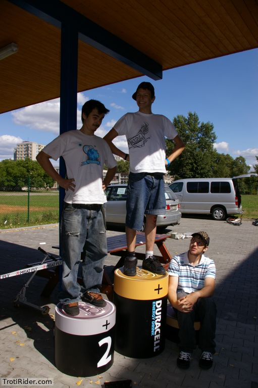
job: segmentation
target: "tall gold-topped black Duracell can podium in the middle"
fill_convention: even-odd
[[[115,270],[117,309],[115,350],[123,356],[148,358],[165,347],[168,273],[156,275],[137,267],[136,276]]]

